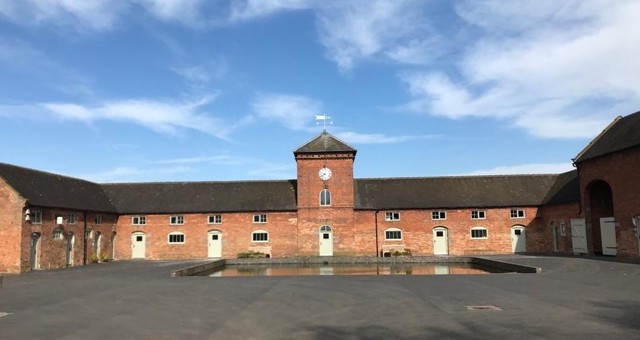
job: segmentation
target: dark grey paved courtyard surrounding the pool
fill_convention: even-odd
[[[640,265],[500,258],[542,273],[172,278],[195,262],[144,261],[33,272],[4,278],[0,339],[640,338]]]

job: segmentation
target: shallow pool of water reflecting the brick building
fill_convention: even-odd
[[[471,263],[226,265],[202,276],[459,275],[504,271]]]

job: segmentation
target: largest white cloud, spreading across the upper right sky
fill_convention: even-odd
[[[463,119],[502,119],[542,138],[593,137],[640,106],[637,1],[463,2],[475,25],[449,73],[403,72],[406,109]]]

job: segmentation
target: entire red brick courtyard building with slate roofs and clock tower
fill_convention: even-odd
[[[356,150],[326,131],[294,157],[279,181],[96,184],[0,164],[0,272],[247,252],[638,256],[640,113],[564,174],[355,179]]]

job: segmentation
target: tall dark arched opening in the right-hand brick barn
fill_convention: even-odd
[[[605,181],[598,180],[590,185],[589,216],[591,240],[595,254],[616,255],[616,231],[613,218],[613,193]]]

